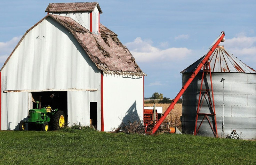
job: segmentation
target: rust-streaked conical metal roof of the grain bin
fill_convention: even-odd
[[[195,61],[192,65],[184,69],[181,73],[193,73],[198,64],[205,56]],[[209,58],[211,72],[227,73],[256,73],[256,71],[237,59],[225,50],[224,46],[218,46]],[[202,69],[200,70],[202,72]]]

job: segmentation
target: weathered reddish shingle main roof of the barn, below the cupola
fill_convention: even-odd
[[[142,72],[142,70],[135,62],[135,58],[133,55],[131,55],[130,51],[119,41],[117,34],[102,24],[100,24],[99,34],[94,34],[70,17],[48,14],[37,24],[31,27],[24,34],[21,41],[30,30],[32,30],[35,26],[37,26],[40,22],[48,17],[53,18],[58,23],[67,28],[74,35],[75,39],[77,39],[77,41],[80,43],[90,59],[95,63],[98,69],[104,73],[146,76],[146,74]],[[19,41],[15,49],[18,47],[21,41]],[[3,67],[6,65],[11,55],[8,57]]]

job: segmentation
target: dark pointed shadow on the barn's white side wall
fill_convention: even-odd
[[[121,124],[118,126],[118,128],[122,127],[123,124],[127,124],[128,122],[132,123],[132,122],[138,121],[141,123],[136,106],[137,104],[135,101],[133,105],[131,105],[131,107],[125,113],[125,117],[123,117]]]

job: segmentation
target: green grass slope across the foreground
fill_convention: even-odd
[[[256,164],[256,141],[91,129],[0,131],[0,164]]]

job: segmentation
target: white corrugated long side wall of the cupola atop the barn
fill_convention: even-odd
[[[97,9],[97,8],[96,8]],[[59,16],[70,17],[78,22],[83,27],[90,30],[90,13],[89,12],[77,12],[77,13],[51,13]]]

